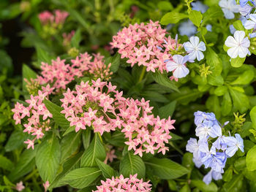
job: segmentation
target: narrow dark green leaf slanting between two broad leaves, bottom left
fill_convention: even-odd
[[[68,158],[64,164],[61,164],[61,171],[57,173],[57,176],[54,178],[53,182],[50,183],[49,190],[52,188],[56,188],[61,186],[60,180],[72,169],[78,167],[79,161],[82,158],[83,152],[80,152],[73,156],[72,158]]]

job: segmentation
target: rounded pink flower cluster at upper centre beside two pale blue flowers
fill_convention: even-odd
[[[123,28],[113,37],[112,47],[118,48],[121,58],[128,58],[127,63],[146,66],[146,71],[160,72],[166,70],[165,61],[171,59],[170,49],[175,49],[175,40],[165,38],[166,30],[157,22],[135,23]],[[166,42],[166,49],[162,51],[162,44]]]

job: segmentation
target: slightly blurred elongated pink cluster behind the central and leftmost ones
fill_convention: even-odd
[[[83,74],[91,74],[94,78],[102,78],[105,80],[110,79],[110,66],[105,65],[102,55],[94,55],[94,60],[91,61],[92,56],[88,53],[80,53],[75,59],[71,60],[70,64],[65,64],[66,60],[61,60],[59,57],[51,64],[42,62],[41,75],[37,76],[37,82],[39,85],[48,85],[49,87],[43,88],[43,92],[48,93],[59,92],[61,89],[66,89],[67,84],[76,77],[82,77]]]

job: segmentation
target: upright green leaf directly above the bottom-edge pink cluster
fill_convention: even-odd
[[[138,174],[138,178],[145,177],[146,167],[138,155],[128,151],[120,161],[120,174],[129,177],[130,174]]]

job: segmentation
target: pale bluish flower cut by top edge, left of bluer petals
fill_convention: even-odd
[[[240,5],[236,4],[236,0],[220,0],[219,7],[222,7],[225,18],[233,19],[235,18],[234,12],[239,12]]]

